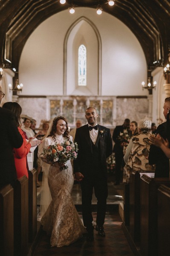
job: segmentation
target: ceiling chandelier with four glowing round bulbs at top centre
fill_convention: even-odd
[[[60,0],[61,4],[71,4],[71,7],[69,7],[69,12],[71,14],[75,13],[75,6],[96,6],[96,13],[98,15],[102,14],[102,7],[101,5],[103,4],[109,4],[109,6],[114,6],[115,4],[115,0],[93,0],[93,1],[89,1],[89,0]]]

